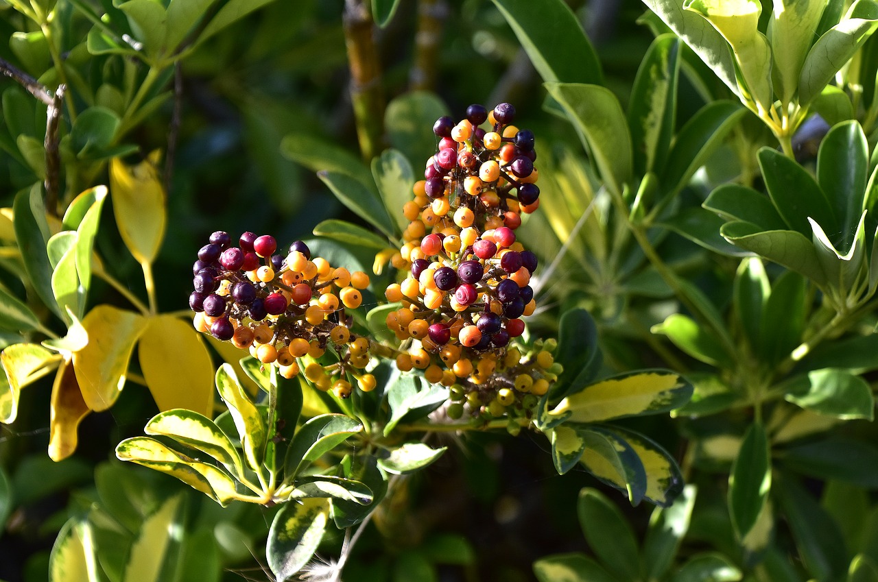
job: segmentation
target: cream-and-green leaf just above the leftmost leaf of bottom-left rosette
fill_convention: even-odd
[[[215,458],[242,475],[241,456],[217,425],[203,414],[176,409],[156,414],[143,428],[147,435],[169,436],[176,442]]]

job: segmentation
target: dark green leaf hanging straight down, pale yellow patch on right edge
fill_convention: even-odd
[[[744,436],[729,475],[729,514],[743,540],[759,519],[771,489],[771,455],[762,425],[754,422]]]

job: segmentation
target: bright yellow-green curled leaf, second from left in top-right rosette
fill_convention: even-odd
[[[762,4],[758,0],[686,0],[683,8],[707,18],[730,44],[741,96],[762,109],[771,108],[772,53],[758,28]]]

